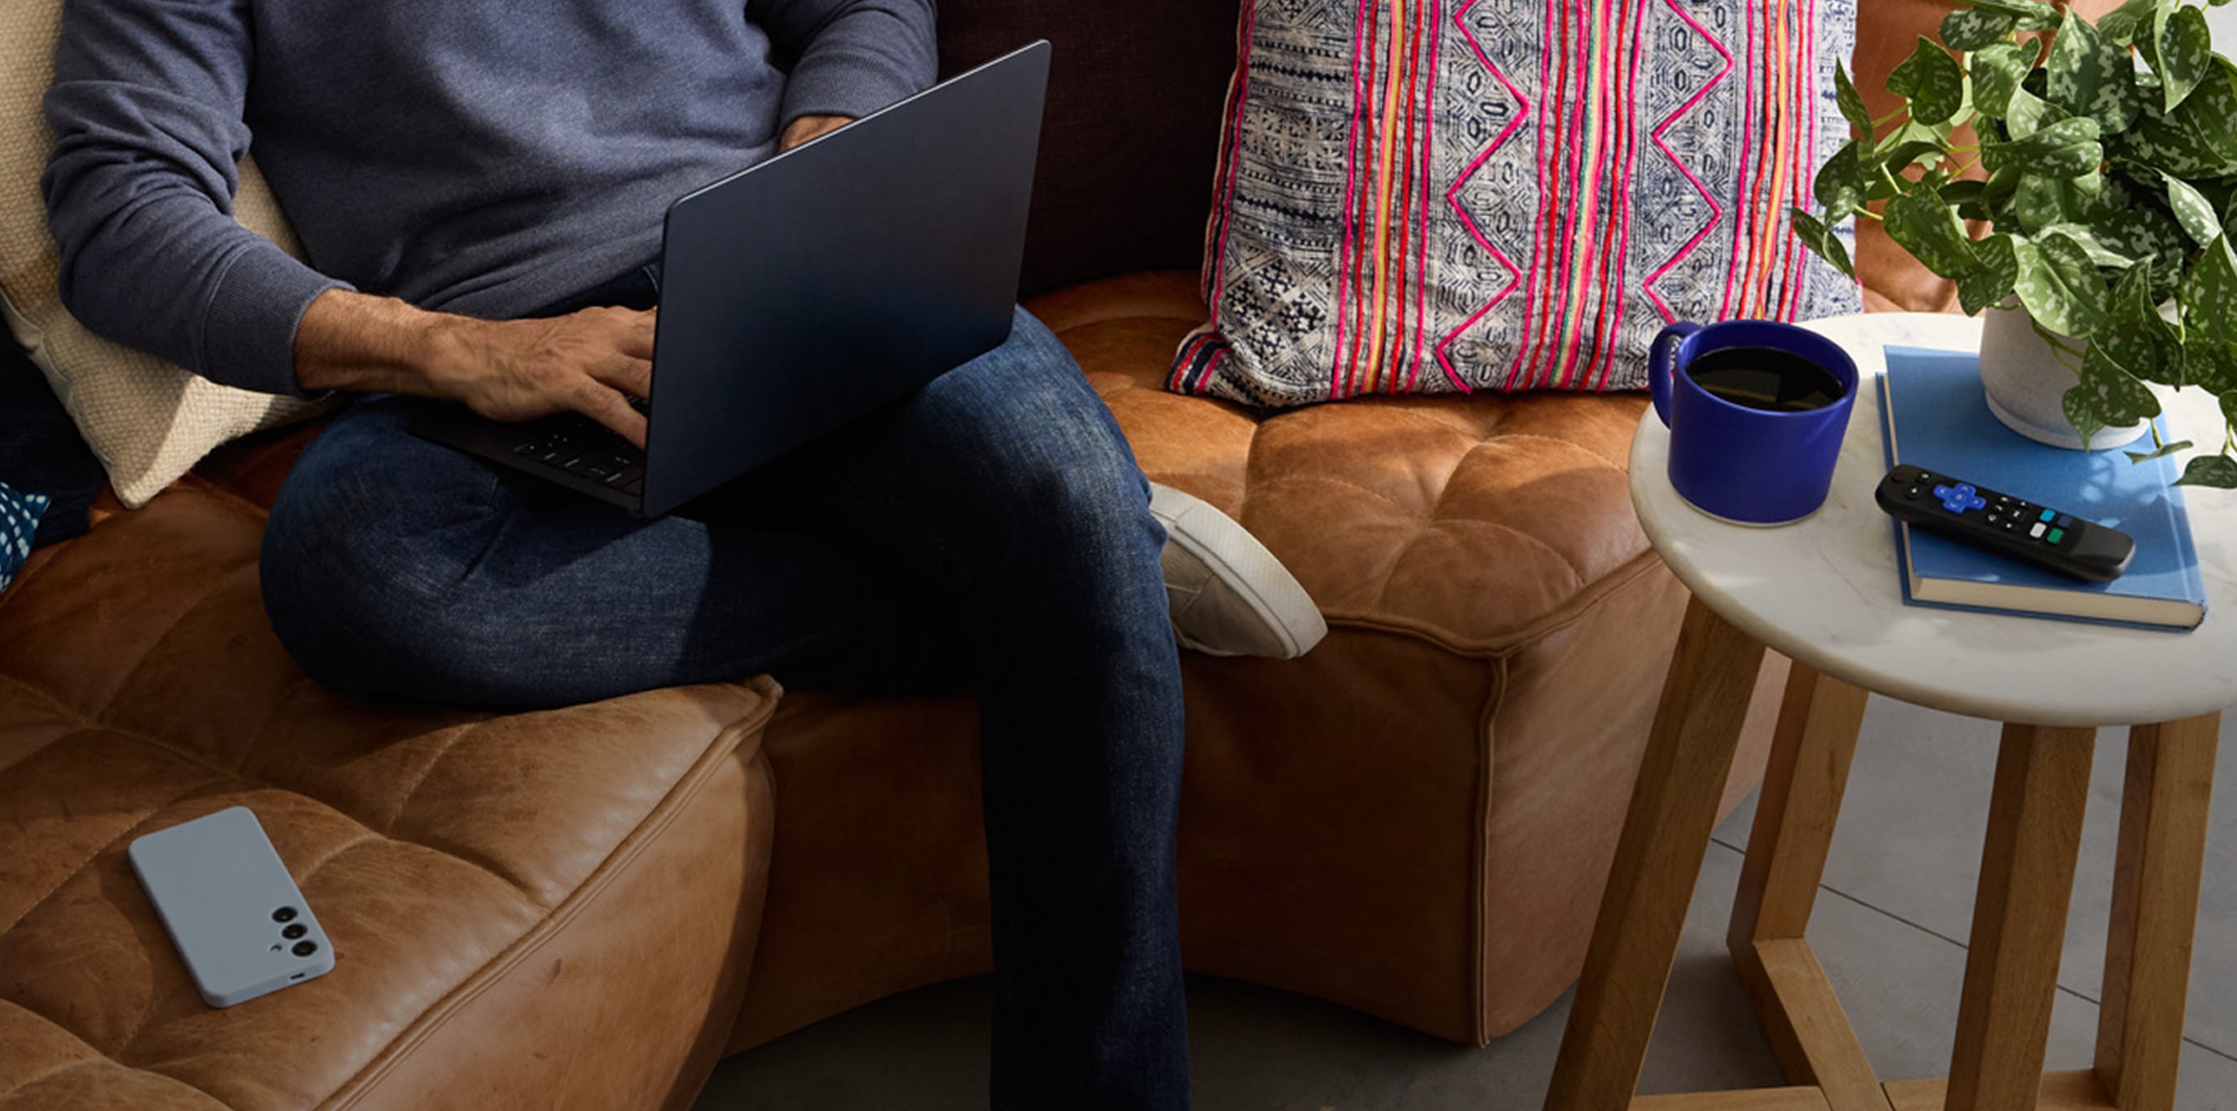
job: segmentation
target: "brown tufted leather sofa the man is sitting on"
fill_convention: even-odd
[[[1868,0],[1861,83],[1939,11]],[[1300,662],[1186,664],[1190,968],[1481,1044],[1577,975],[1684,606],[1626,496],[1644,402],[1161,391],[1201,320],[1235,13],[948,0],[942,47],[955,69],[1056,40],[1031,306],[1143,467],[1242,519],[1329,617]],[[1861,257],[1875,306],[1948,304],[1884,241]],[[725,1051],[987,970],[966,697],[338,697],[255,590],[313,434],[110,505],[0,597],[0,1107],[685,1107]],[[340,961],[210,1010],[123,845],[233,803]]]

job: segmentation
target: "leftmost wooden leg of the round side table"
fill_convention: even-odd
[[[1763,644],[1700,599],[1687,606],[1546,1093],[1548,1111],[1631,1107],[1761,668]]]

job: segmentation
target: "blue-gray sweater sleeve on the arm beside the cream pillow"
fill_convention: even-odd
[[[248,0],[67,0],[40,177],[63,304],[213,382],[300,396],[295,326],[342,282],[233,219]]]

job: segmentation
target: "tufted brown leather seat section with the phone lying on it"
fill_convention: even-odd
[[[774,684],[351,702],[266,628],[259,530],[190,478],[0,595],[0,1107],[689,1102],[758,928]],[[228,805],[338,963],[213,1010],[123,849]]]

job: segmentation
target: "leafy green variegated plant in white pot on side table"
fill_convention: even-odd
[[[2212,51],[2203,7],[2130,0],[2092,25],[2042,0],[1971,0],[1888,92],[1904,107],[1875,121],[1837,74],[1854,141],[1816,177],[1825,215],[1794,210],[1803,241],[1854,275],[1832,226],[1877,219],[1957,282],[1966,313],[1995,308],[1982,376],[2020,431],[2045,431],[2020,427],[2020,371],[2051,376],[2038,391],[2076,447],[2150,427],[2145,382],[2215,393],[2221,445],[2150,427],[2154,449],[2130,458],[2208,447],[2181,483],[2237,490],[2237,65]],[[1953,139],[1966,125],[1975,139]]]

